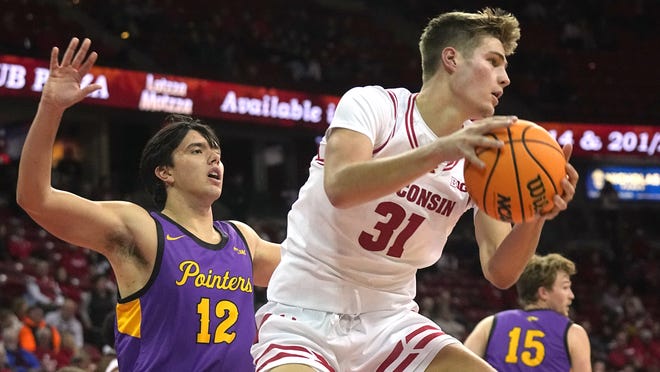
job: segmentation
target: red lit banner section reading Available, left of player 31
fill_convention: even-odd
[[[0,56],[0,96],[38,97],[48,65],[31,58]],[[102,89],[86,103],[182,113],[277,126],[324,130],[339,97],[255,87],[149,72],[94,67],[82,81]]]

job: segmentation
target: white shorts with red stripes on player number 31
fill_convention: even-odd
[[[410,310],[346,315],[268,302],[256,317],[258,372],[294,363],[325,372],[423,371],[440,349],[459,343]]]

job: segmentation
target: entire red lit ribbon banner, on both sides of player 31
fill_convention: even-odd
[[[0,96],[39,97],[48,78],[45,61],[0,55]],[[282,127],[325,130],[339,97],[285,91],[150,72],[94,67],[83,85],[103,88],[88,104],[185,113]],[[538,122],[573,154],[658,156],[660,128],[640,125]]]

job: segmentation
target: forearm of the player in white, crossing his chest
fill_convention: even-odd
[[[353,163],[336,172],[325,173],[324,186],[330,202],[337,208],[350,208],[374,200],[409,185],[435,169],[427,148],[418,148],[388,158]]]

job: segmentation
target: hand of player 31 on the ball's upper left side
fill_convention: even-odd
[[[515,116],[492,116],[465,125],[461,130],[438,139],[437,151],[441,153],[440,158],[443,161],[465,158],[466,161],[483,168],[485,164],[477,156],[477,148],[499,148],[503,145],[502,141],[485,134],[508,127],[516,120]]]

